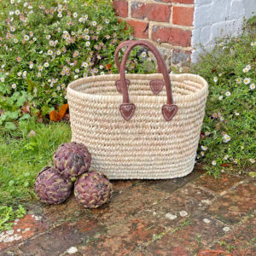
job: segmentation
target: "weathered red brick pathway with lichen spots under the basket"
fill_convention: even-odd
[[[100,209],[86,210],[73,197],[31,206],[0,233],[0,255],[256,255],[251,177],[215,179],[195,167],[187,177],[113,185],[112,201]]]

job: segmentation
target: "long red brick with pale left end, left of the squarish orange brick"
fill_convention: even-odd
[[[143,20],[148,18],[148,20],[169,22],[171,15],[171,6],[164,4],[154,4],[154,3],[131,3],[131,17]]]

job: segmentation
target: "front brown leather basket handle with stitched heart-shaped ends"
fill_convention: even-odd
[[[158,49],[154,46],[154,44],[149,43],[148,41],[138,40],[138,41],[125,41],[121,43],[122,46],[128,45],[128,48],[125,51],[125,55],[123,56],[123,60],[120,65],[120,86],[122,88],[123,94],[123,104],[120,105],[119,110],[123,118],[128,121],[131,119],[133,114],[135,113],[136,106],[133,103],[130,103],[128,88],[125,83],[125,64],[128,59],[128,56],[131,53],[131,49],[133,49],[137,45],[144,46],[148,48],[155,56],[158,66],[160,67],[161,73],[163,74],[165,85],[166,85],[166,96],[167,102],[162,107],[162,114],[166,121],[170,121],[175,114],[177,113],[177,105],[173,104],[172,100],[172,87],[171,87],[171,79],[167,71],[166,62],[162,59]],[[119,50],[119,47],[116,49],[116,52]]]

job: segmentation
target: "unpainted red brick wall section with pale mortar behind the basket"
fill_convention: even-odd
[[[135,38],[160,49],[168,66],[189,61],[194,0],[114,0],[113,7],[133,27]]]

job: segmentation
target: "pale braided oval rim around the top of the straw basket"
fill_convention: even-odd
[[[191,102],[195,99],[201,98],[201,96],[205,96],[208,93],[208,84],[205,79],[203,79],[201,76],[191,73],[182,73],[182,74],[169,74],[171,78],[171,84],[172,81],[183,81],[183,80],[191,80],[192,82],[197,82],[202,85],[201,89],[196,90],[195,92],[192,92],[189,95],[173,95],[174,102]],[[103,95],[103,94],[90,94],[86,92],[82,92],[80,90],[76,90],[78,86],[84,83],[93,83],[93,82],[99,82],[99,81],[116,81],[119,80],[120,75],[119,74],[107,74],[107,75],[96,75],[81,79],[76,79],[67,86],[67,100],[70,100],[70,96],[73,97],[79,97],[80,99],[87,99],[92,100],[96,102],[120,102],[123,99],[123,96],[120,95]],[[151,73],[151,74],[131,74],[127,73],[125,74],[126,79],[162,79],[161,73]],[[192,85],[193,86],[193,85]],[[149,86],[148,86],[148,90]],[[137,101],[137,102],[165,102],[166,96],[130,96],[131,101]]]

